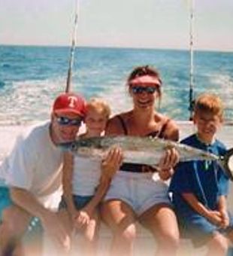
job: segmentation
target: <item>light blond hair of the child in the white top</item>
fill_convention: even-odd
[[[110,106],[107,104],[107,102],[104,99],[100,98],[92,98],[87,102],[86,104],[86,112],[88,112],[90,109],[94,109],[95,111],[100,112],[101,114],[104,114],[107,119],[110,117]]]

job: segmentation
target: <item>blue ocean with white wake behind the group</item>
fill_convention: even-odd
[[[29,123],[50,117],[56,95],[65,90],[70,47],[0,45],[0,123]],[[102,97],[113,114],[131,108],[126,78],[135,66],[151,65],[162,75],[159,111],[189,119],[189,51],[77,47],[72,90]],[[194,52],[194,93],[217,93],[225,118],[233,120],[233,53]]]

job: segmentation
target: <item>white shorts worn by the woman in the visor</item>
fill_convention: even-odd
[[[152,172],[116,172],[104,197],[107,200],[129,204],[138,216],[159,203],[171,205],[168,184],[159,178],[154,180]]]

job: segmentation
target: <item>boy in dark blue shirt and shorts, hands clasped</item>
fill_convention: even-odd
[[[222,120],[219,97],[202,94],[195,102],[193,116],[197,133],[181,143],[216,155],[225,154],[225,146],[216,139]],[[200,160],[179,163],[170,190],[181,231],[195,246],[207,245],[207,255],[225,255],[226,237],[233,240],[233,221],[226,204],[228,177],[218,163]]]

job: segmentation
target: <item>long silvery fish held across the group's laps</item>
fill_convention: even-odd
[[[142,163],[156,165],[159,163],[165,150],[176,148],[180,154],[180,161],[189,160],[216,160],[225,173],[233,180],[233,148],[224,156],[202,151],[170,140],[138,137],[138,136],[103,136],[86,139],[77,139],[74,142],[62,143],[59,146],[83,157],[104,157],[107,150],[113,145],[123,149],[123,161],[126,163]]]

